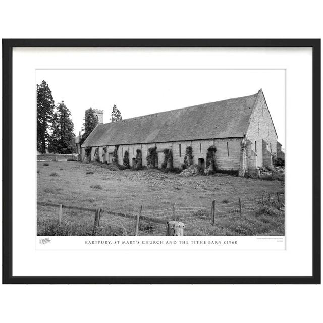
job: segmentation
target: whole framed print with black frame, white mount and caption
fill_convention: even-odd
[[[320,283],[320,40],[4,39],[3,282]]]

